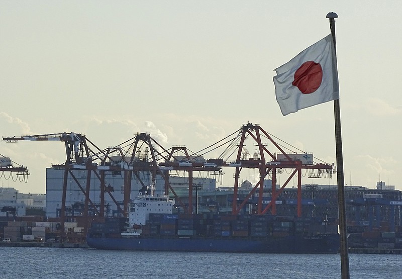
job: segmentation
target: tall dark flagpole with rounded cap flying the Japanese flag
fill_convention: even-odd
[[[336,57],[336,41],[335,41],[335,18],[336,13],[328,13],[327,19],[330,21],[330,29],[334,40],[335,57]],[[339,210],[339,231],[341,236],[341,273],[342,279],[349,279],[349,254],[348,254],[348,236],[346,231],[346,204],[345,204],[345,181],[343,175],[343,155],[342,155],[342,136],[341,136],[341,113],[339,108],[339,99],[334,100],[334,116],[335,116],[335,149],[336,149],[336,165],[338,178],[338,210]]]

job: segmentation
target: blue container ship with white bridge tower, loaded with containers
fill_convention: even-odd
[[[248,253],[337,253],[338,228],[326,220],[273,215],[173,214],[174,199],[140,195],[129,218],[92,222],[96,249]]]

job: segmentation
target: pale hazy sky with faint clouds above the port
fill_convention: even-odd
[[[106,148],[147,132],[198,151],[249,121],[336,162],[333,103],[282,116],[272,81],[330,33],[335,12],[345,183],[402,190],[400,11],[378,0],[1,1],[0,134],[75,132]],[[0,154],[29,168],[27,183],[0,179],[23,193],[45,193],[46,168],[65,161],[62,142],[1,141]]]

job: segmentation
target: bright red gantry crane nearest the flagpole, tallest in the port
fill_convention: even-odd
[[[238,133],[233,139],[227,140],[230,136]],[[247,123],[244,124],[239,130],[226,137],[225,139],[197,152],[202,155],[215,150],[217,147],[226,146],[226,149],[217,159],[208,159],[204,165],[217,166],[217,167],[235,167],[234,174],[234,193],[232,202],[232,214],[239,214],[240,210],[246,205],[249,199],[258,189],[258,204],[257,214],[265,214],[269,209],[271,213],[276,214],[275,201],[282,193],[283,189],[289,183],[294,175],[297,176],[297,216],[302,216],[302,170],[308,172],[309,178],[321,178],[323,175],[332,177],[336,172],[335,166],[328,163],[314,163],[313,154],[289,154],[276,143],[273,138],[258,124]],[[249,152],[246,149],[246,139],[252,138],[256,146],[254,158],[248,158]],[[267,139],[272,145],[272,149],[268,149],[262,142],[262,138]],[[222,141],[227,140],[222,143]],[[235,159],[230,159],[232,154],[236,153]],[[194,155],[194,154],[193,154]],[[167,162],[164,165],[171,165]],[[243,202],[239,204],[238,187],[240,173],[244,168],[254,168],[259,170],[259,181],[244,198]],[[276,189],[276,174],[282,173],[284,169],[291,169],[285,183],[282,184],[280,189]],[[272,178],[272,198],[271,201],[264,207],[263,204],[263,183],[264,179],[270,175]]]

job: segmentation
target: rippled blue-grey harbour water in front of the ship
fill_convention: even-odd
[[[0,278],[340,278],[340,255],[0,247]],[[349,254],[351,278],[402,278],[402,255]]]

